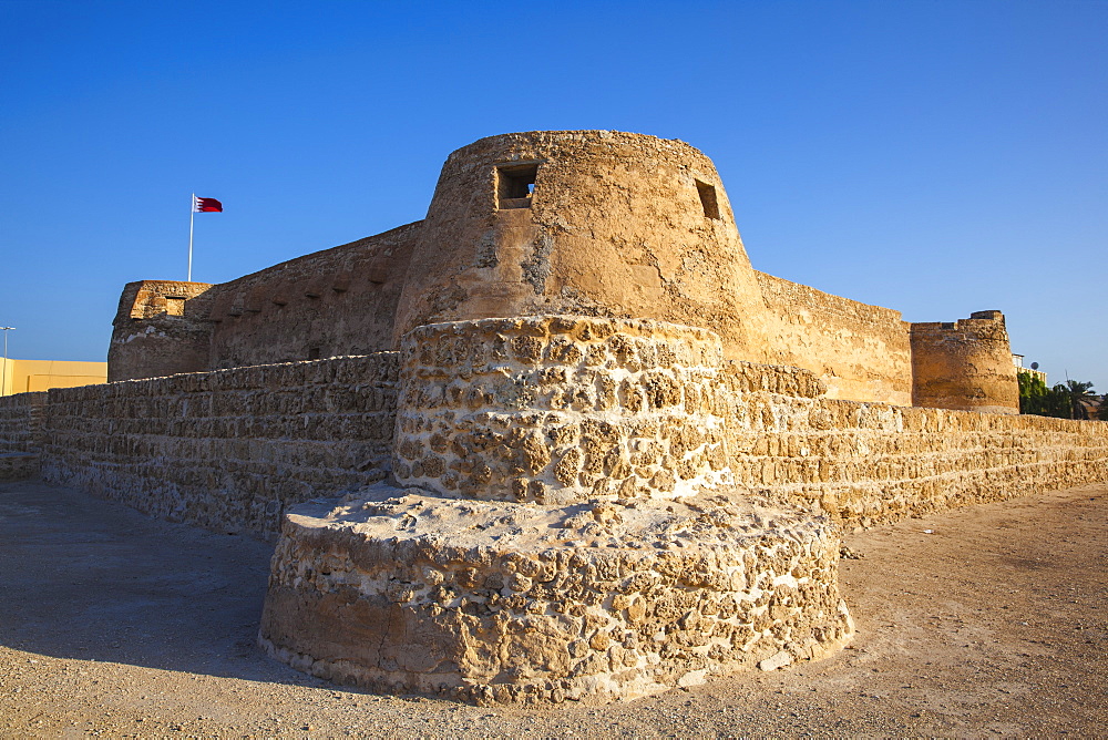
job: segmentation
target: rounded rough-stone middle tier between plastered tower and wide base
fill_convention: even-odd
[[[403,345],[393,473],[470,499],[693,495],[730,481],[719,338],[661,321],[485,319]]]

